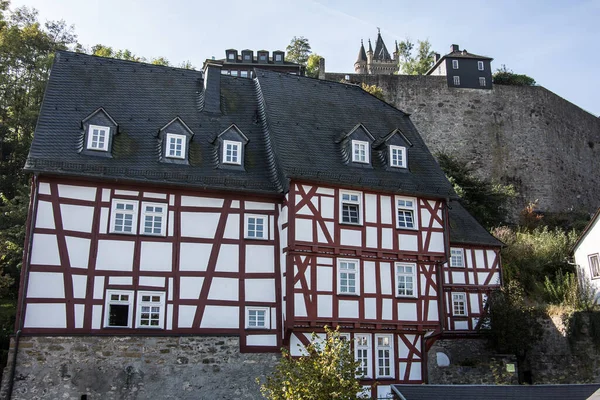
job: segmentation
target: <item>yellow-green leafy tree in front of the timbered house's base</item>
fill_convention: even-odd
[[[325,327],[326,338],[313,333],[306,355],[283,357],[260,391],[269,400],[355,400],[361,392],[356,379],[359,363],[339,329]],[[260,380],[257,379],[260,383]]]

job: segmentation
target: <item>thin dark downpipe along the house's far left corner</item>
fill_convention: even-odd
[[[23,329],[23,325],[25,324],[25,293],[27,289],[26,277],[29,273],[29,260],[31,257],[31,248],[33,246],[33,228],[35,224],[35,219],[37,215],[37,196],[38,196],[38,176],[37,174],[33,175],[32,185],[31,185],[31,194],[30,194],[30,203],[29,203],[29,224],[27,226],[28,234],[27,238],[27,248],[24,249],[25,254],[23,255],[23,269],[21,271],[21,291],[19,296],[19,304],[17,308],[18,312],[18,321],[16,321],[17,331],[15,333],[15,346],[13,349],[12,362],[10,368],[10,380],[8,381],[8,390],[6,400],[11,400],[12,392],[15,381],[15,374],[17,372],[17,353],[19,352],[19,339],[21,338],[21,330]]]

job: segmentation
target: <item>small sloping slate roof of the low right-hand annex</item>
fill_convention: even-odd
[[[451,244],[481,244],[485,246],[503,246],[504,243],[492,236],[469,212],[456,200],[448,207],[450,217]]]

